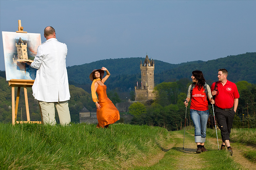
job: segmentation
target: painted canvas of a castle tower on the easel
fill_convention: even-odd
[[[37,33],[2,32],[6,80],[35,80],[36,69],[22,60],[34,60],[41,35]]]

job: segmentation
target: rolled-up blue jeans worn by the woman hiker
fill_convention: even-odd
[[[190,109],[190,116],[195,125],[195,142],[204,143],[209,110],[201,111]]]

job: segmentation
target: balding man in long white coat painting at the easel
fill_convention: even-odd
[[[33,96],[38,100],[44,124],[56,124],[55,109],[60,124],[70,123],[68,100],[68,74],[66,68],[67,45],[56,39],[54,28],[44,29],[46,41],[38,46],[35,59],[30,64],[36,68],[36,79],[32,86]]]

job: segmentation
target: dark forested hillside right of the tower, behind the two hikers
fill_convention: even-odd
[[[166,79],[162,77],[167,77],[168,81],[187,78],[196,69],[203,72],[206,80],[217,81],[217,73],[220,68],[228,70],[228,80],[230,81],[245,80],[250,83],[256,83],[256,53],[230,55],[216,60],[187,62],[185,65],[165,70],[161,73],[161,76],[155,74],[155,82],[165,81]]]

